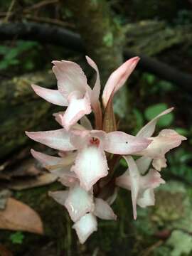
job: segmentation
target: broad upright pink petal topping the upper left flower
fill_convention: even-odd
[[[77,63],[72,61],[53,61],[53,73],[58,80],[58,90],[64,97],[70,92],[79,91],[85,94],[88,87],[87,78]]]

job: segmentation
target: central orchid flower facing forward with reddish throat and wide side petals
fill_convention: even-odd
[[[89,191],[108,174],[105,151],[112,154],[134,154],[145,149],[151,141],[124,132],[106,133],[100,130],[58,129],[47,132],[26,132],[28,137],[53,149],[77,151],[71,171],[78,176],[80,185]]]

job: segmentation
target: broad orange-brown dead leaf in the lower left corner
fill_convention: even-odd
[[[0,229],[43,234],[43,223],[35,210],[14,198],[9,198],[6,209],[0,210]]]

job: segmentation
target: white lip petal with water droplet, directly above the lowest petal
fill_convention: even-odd
[[[76,222],[85,213],[94,210],[92,193],[85,191],[78,184],[70,188],[68,198],[65,201],[65,207],[68,209],[70,218]]]

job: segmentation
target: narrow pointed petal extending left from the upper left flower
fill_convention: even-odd
[[[36,94],[50,103],[59,106],[68,106],[68,100],[60,94],[58,90],[51,90],[40,87],[38,85],[31,85]]]

